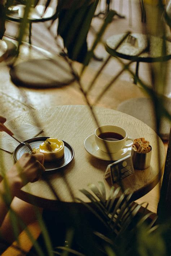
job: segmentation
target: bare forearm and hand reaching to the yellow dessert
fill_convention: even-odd
[[[0,182],[0,226],[8,212],[10,203],[18,191],[28,182],[35,182],[40,178],[45,170],[43,163],[44,155],[42,153],[35,155],[26,153],[6,173],[6,177]],[[8,203],[6,203],[6,200],[8,200]]]

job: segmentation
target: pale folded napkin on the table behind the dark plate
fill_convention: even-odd
[[[12,130],[14,136],[21,142],[27,139],[34,138],[42,131],[43,129],[41,129],[40,127],[29,125],[28,123],[24,123],[16,130]],[[8,151],[9,153],[13,153],[18,145],[19,143],[8,134],[0,139],[0,148]]]

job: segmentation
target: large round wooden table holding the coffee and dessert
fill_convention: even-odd
[[[100,125],[120,126],[132,138],[144,137],[152,146],[150,167],[135,170],[133,175],[122,180],[124,188],[130,188],[133,200],[136,200],[148,193],[161,178],[166,157],[163,142],[149,126],[134,117],[112,109],[96,107],[94,110]],[[104,182],[107,195],[109,194],[110,180],[106,181],[103,177],[110,161],[97,159],[84,149],[84,140],[93,134],[97,127],[87,106],[65,105],[34,110],[9,122],[8,127],[17,129],[23,123],[43,127],[44,132],[40,136],[57,137],[69,143],[74,148],[75,156],[65,169],[54,174],[47,173],[44,179],[23,187],[17,195],[19,198],[49,209],[55,209],[62,203],[75,203],[75,198],[88,202],[79,190],[87,189],[89,183],[97,185],[98,181]],[[8,171],[14,164],[13,155],[0,150],[0,162],[1,168],[5,172]],[[114,186],[118,187],[119,184],[115,183]]]

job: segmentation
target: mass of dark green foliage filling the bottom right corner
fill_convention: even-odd
[[[77,198],[95,214],[104,225],[104,230],[108,230],[105,234],[93,231],[93,234],[99,238],[94,244],[99,250],[98,255],[169,255],[171,239],[165,238],[170,233],[170,221],[167,224],[156,226],[157,216],[146,213],[148,204],[144,212],[140,214],[139,210],[142,205],[132,202],[128,191],[118,197],[120,188],[111,187],[109,196],[107,196],[104,183],[98,182],[98,185],[99,188],[94,184],[89,184],[89,190],[80,190],[91,201],[91,204],[84,203]],[[73,252],[69,247],[57,249]],[[92,244],[90,243],[89,248],[86,249],[90,254],[85,253],[84,248],[74,254],[91,255]]]

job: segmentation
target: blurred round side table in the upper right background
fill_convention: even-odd
[[[133,33],[131,34],[133,37],[136,38],[136,44],[137,46],[132,45],[131,43],[127,42],[127,39],[119,46],[117,50],[115,50],[115,47],[117,46],[118,42],[123,38],[124,33],[113,35],[110,38],[106,40],[106,51],[114,56],[123,58],[126,60],[132,60],[136,61],[136,73],[134,78],[134,83],[137,83],[138,78],[138,70],[139,70],[139,62],[157,62],[157,61],[168,61],[171,59],[171,42],[166,41],[166,47],[167,47],[167,54],[166,56],[162,56],[160,53],[161,51],[158,51],[158,45],[162,49],[162,38],[156,37],[156,36],[150,36],[150,55],[149,52],[144,52],[141,55],[137,57],[139,52],[141,52],[143,49],[147,47],[147,38],[146,35],[139,34],[139,33]]]

